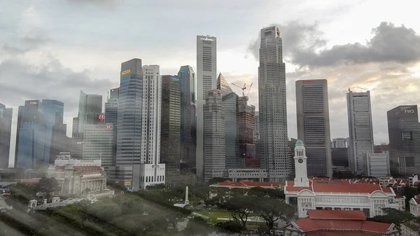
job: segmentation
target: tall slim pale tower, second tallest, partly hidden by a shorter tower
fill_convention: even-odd
[[[207,92],[216,88],[216,37],[197,36],[197,153],[196,167],[199,179],[203,177],[203,106]]]

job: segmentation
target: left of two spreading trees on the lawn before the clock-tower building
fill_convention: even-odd
[[[229,200],[226,200],[226,202],[220,204],[220,207],[228,210],[230,214],[232,214],[232,218],[234,218],[238,223],[240,222],[245,228],[248,215],[251,213],[253,204],[256,200],[256,197],[248,195],[232,197]]]

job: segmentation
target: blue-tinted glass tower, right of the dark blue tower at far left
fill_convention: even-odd
[[[64,117],[64,103],[52,99],[43,99],[41,112],[45,118],[45,146],[44,161],[50,162],[50,146],[52,136],[52,126],[55,125],[57,113],[60,117]],[[64,151],[64,150],[63,150]],[[55,160],[55,156],[51,160]],[[50,162],[51,163],[51,162]],[[53,163],[53,162],[52,162]]]

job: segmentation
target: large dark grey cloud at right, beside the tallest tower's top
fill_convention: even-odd
[[[277,25],[281,29],[286,61],[299,67],[328,67],[338,64],[397,62],[420,60],[420,36],[404,25],[390,22],[372,29],[372,38],[363,43],[347,43],[325,48],[327,41],[317,24],[289,22]],[[252,41],[248,52],[258,58],[259,39]]]

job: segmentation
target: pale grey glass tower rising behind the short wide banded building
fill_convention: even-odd
[[[102,112],[102,95],[87,95],[80,90],[79,107],[78,107],[78,132],[83,133],[87,123],[87,114]]]

